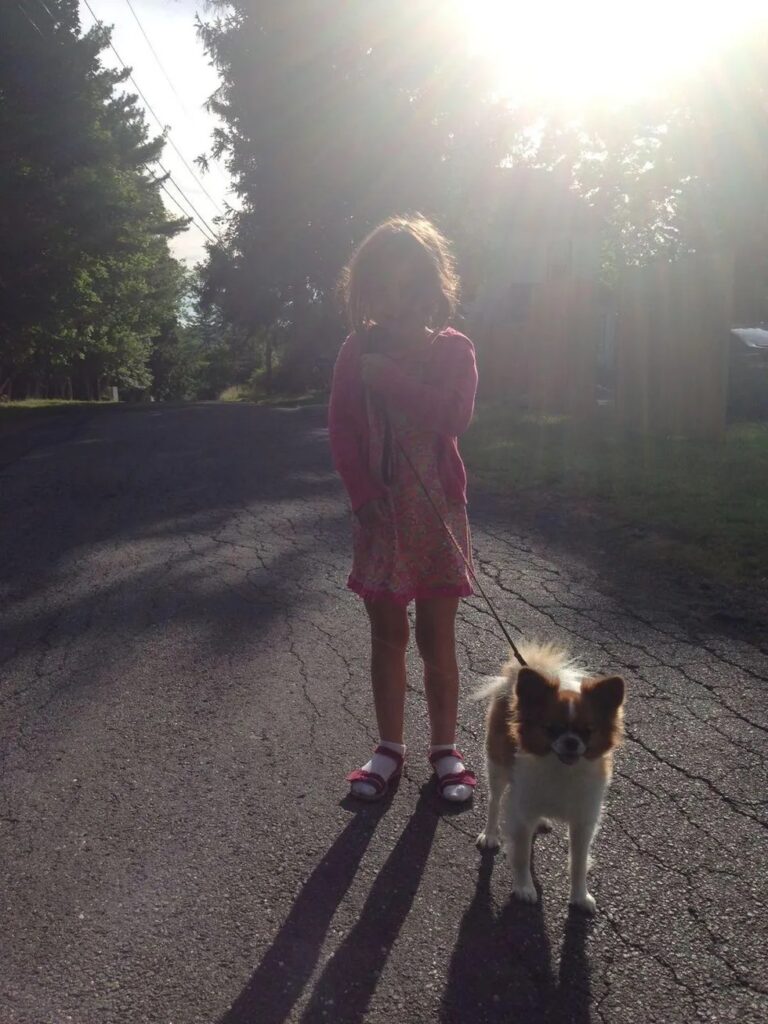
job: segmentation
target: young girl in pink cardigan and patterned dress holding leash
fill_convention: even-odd
[[[371,621],[380,736],[371,760],[347,780],[353,796],[379,800],[399,777],[407,608],[415,600],[429,760],[441,796],[467,801],[476,779],[456,749],[454,627],[459,598],[472,587],[430,502],[470,561],[467,478],[457,435],[472,418],[477,369],[472,342],[445,327],[457,299],[454,262],[429,221],[394,217],[359,246],[342,285],[352,333],[334,370],[329,428],[334,465],[354,513],[347,586],[364,599]]]

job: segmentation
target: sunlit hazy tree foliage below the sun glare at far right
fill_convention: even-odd
[[[557,168],[605,224],[606,266],[731,250],[736,318],[768,313],[768,32],[653,99],[551,118],[531,162]]]

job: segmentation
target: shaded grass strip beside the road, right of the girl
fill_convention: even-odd
[[[608,419],[480,407],[462,442],[489,489],[562,499],[653,532],[656,555],[724,582],[768,577],[768,424],[731,426],[722,441],[630,437]]]

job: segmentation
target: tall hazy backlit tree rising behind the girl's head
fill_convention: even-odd
[[[322,356],[352,245],[395,212],[451,229],[478,164],[503,155],[498,109],[453,2],[214,6],[200,31],[222,79],[215,152],[241,208],[205,268],[206,301],[249,331],[288,325]]]

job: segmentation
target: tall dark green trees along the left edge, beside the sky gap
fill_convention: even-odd
[[[0,388],[96,396],[146,388],[154,339],[176,315],[180,268],[125,74],[81,34],[75,0],[0,8]],[[8,388],[6,387],[6,390]]]

